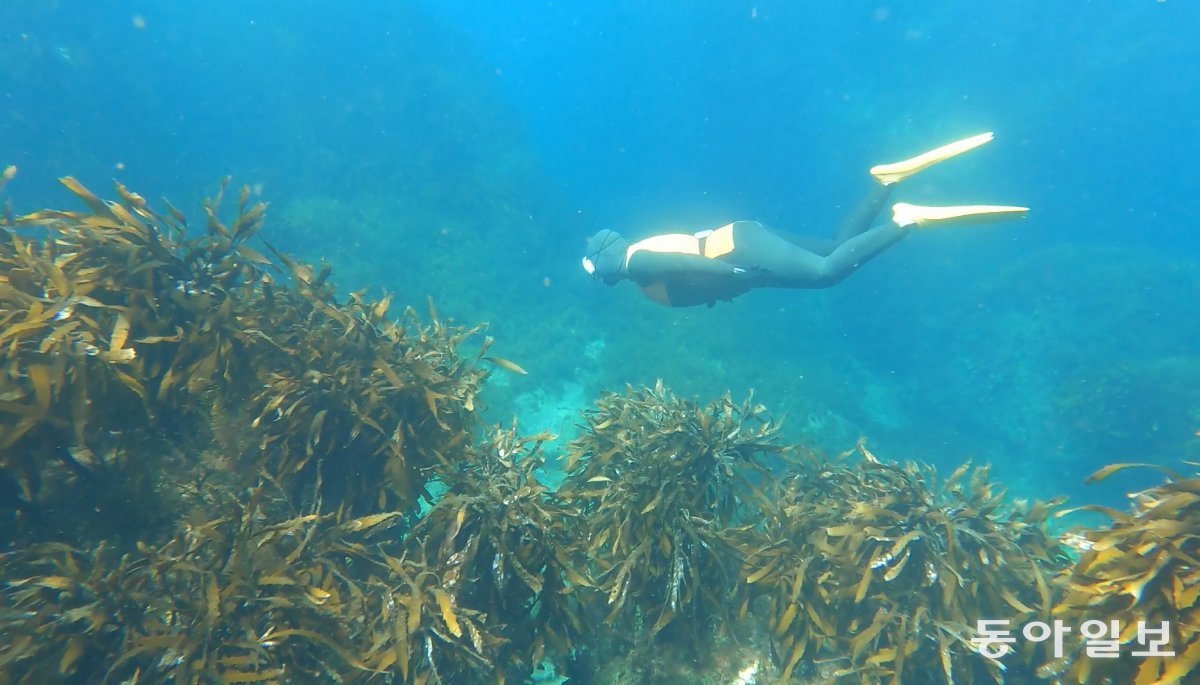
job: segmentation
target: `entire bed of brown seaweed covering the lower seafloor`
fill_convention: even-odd
[[[0,684],[583,680],[622,660],[688,681],[736,651],[738,678],[768,677],[769,650],[785,681],[1165,685],[1200,663],[1195,477],[1055,513],[986,467],[827,459],[752,397],[660,381],[582,413],[556,491],[553,435],[476,416],[482,362],[524,373],[491,337],[458,353],[484,326],[341,301],[328,266],[250,246],[247,190],[222,220],[228,180],[197,226],[62,184],[85,211],[0,229]],[[1114,523],[1048,534],[1080,509]],[[976,653],[977,621],[1046,617],[1120,621],[1123,644],[1165,621],[1180,657]]]

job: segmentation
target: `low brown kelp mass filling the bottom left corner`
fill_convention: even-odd
[[[126,554],[44,543],[5,555],[0,681],[478,679],[503,641],[386,535],[403,519],[270,522],[274,486],[162,546]],[[277,503],[283,504],[283,503]]]

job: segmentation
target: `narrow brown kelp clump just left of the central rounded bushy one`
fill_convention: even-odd
[[[446,491],[407,541],[410,557],[437,569],[456,602],[503,629],[497,663],[514,679],[546,655],[562,667],[588,630],[576,593],[592,583],[570,558],[578,512],[535,477],[542,443],[552,438],[496,428],[469,456],[444,464]]]

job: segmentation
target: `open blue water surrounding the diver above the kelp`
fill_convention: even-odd
[[[569,432],[601,389],[749,389],[796,439],[972,457],[1115,500],[1200,437],[1200,7],[1123,2],[55,2],[0,6],[17,211],[116,178],[199,215],[232,174],[264,236],[346,289],[490,322],[488,417]],[[1033,208],[914,235],[826,292],[666,310],[578,269],[739,218],[826,234],[866,169],[979,131],[896,199]]]

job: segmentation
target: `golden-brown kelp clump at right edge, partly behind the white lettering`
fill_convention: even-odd
[[[1097,511],[1112,524],[1070,534],[1081,553],[1058,578],[1054,615],[1073,626],[1074,635],[1063,656],[1046,656],[1040,675],[1061,683],[1168,685],[1193,683],[1200,674],[1200,476],[1153,464],[1112,464],[1088,481],[1129,467],[1158,468],[1169,480],[1130,494],[1130,511],[1082,506],[1062,512]],[[1086,621],[1102,624],[1093,633],[1115,639],[1116,654],[1088,654],[1079,635]],[[1116,635],[1104,630],[1112,621]],[[1175,654],[1152,656],[1156,651]]]

